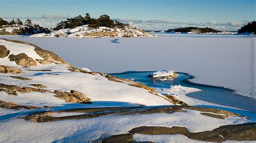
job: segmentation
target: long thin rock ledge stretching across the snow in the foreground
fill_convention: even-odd
[[[190,106],[189,106],[190,107]],[[189,108],[188,107],[188,108]],[[44,112],[38,112],[32,115],[26,116],[25,120],[35,121],[35,122],[48,122],[48,121],[57,121],[57,120],[69,120],[69,119],[87,119],[87,118],[95,118],[95,117],[103,117],[103,116],[125,116],[125,115],[142,115],[142,114],[152,114],[152,113],[173,113],[173,112],[185,112],[184,108],[187,106],[164,106],[157,108],[92,108],[92,109],[72,109],[72,110],[59,110],[59,111],[51,111],[53,113],[60,112],[85,112],[85,115],[76,115],[76,116],[65,116],[65,117],[51,117],[51,116],[43,116]],[[220,110],[220,109],[209,109],[209,108],[198,108],[194,107],[191,110],[207,110],[213,112],[223,112],[224,115],[236,115],[235,113]],[[239,116],[239,115],[238,115]]]

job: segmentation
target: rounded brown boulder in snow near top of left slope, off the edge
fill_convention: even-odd
[[[36,61],[30,58],[25,53],[20,53],[17,55],[11,54],[9,56],[10,61],[15,61],[19,66],[36,66]]]

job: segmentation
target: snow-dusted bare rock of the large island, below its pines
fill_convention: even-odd
[[[39,33],[33,34],[30,37],[156,37],[151,33],[143,30],[138,30],[131,26],[124,26],[124,28],[109,28],[98,27],[89,28],[88,25],[77,26],[75,28],[60,29],[52,31],[49,34]]]

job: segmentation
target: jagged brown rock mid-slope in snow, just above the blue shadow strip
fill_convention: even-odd
[[[66,91],[63,92],[63,91],[55,90],[54,92],[55,92],[55,97],[63,99],[65,100],[65,102],[87,103],[87,104],[92,103],[90,98],[88,98],[86,95],[84,95],[79,91],[70,90],[70,92],[66,92]]]

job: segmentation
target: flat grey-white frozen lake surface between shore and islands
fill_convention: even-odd
[[[73,66],[92,71],[122,73],[127,70],[170,69],[193,75],[192,82],[225,87],[235,90],[237,94],[253,97],[250,49],[251,43],[256,41],[255,37],[158,35],[157,38],[1,37],[30,42],[58,54]]]

